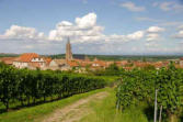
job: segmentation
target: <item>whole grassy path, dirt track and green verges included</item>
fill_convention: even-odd
[[[146,106],[119,112],[115,90],[104,88],[59,101],[0,114],[0,122],[148,122]]]

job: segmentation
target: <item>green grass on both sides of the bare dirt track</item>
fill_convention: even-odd
[[[131,107],[123,112],[116,110],[115,90],[112,88],[99,89],[87,93],[76,95],[59,101],[3,113],[0,114],[0,122],[41,122],[42,119],[54,110],[64,108],[79,99],[87,98],[101,91],[108,92],[107,97],[102,100],[92,100],[87,103],[85,107],[91,110],[91,112],[82,118],[80,122],[148,122],[144,112],[146,104]]]

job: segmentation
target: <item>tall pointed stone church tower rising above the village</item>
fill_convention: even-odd
[[[71,59],[72,59],[72,52],[71,52],[70,38],[68,37],[66,44],[66,60],[71,60]]]

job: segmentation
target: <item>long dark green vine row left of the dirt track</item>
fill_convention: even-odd
[[[105,85],[102,78],[53,70],[16,69],[0,63],[0,103],[7,110],[11,103],[31,106],[103,88]]]

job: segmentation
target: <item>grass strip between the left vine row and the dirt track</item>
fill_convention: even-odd
[[[98,89],[87,93],[76,95],[59,101],[44,103],[36,107],[25,108],[16,111],[11,111],[0,114],[0,122],[39,122],[45,115],[52,113],[55,109],[64,108],[75,101],[89,97],[93,93],[104,91],[105,89]]]

